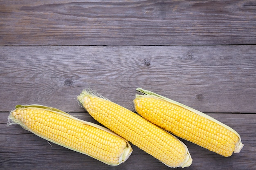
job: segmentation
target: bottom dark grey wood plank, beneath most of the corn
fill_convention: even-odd
[[[97,123],[88,113],[70,113]],[[170,169],[146,152],[132,145],[130,158],[120,166],[108,166],[86,155],[68,150],[22,129],[18,125],[6,126],[9,113],[0,113],[0,169]],[[254,170],[256,153],[256,114],[209,114],[234,128],[245,145],[240,153],[231,157],[222,157],[204,148],[182,140],[191,153],[193,163],[187,170]],[[52,147],[51,147],[52,146]],[[177,170],[182,168],[176,168]]]

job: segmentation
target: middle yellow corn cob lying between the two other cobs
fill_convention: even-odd
[[[146,121],[136,113],[108,99],[84,90],[79,101],[88,113],[135,146],[169,167],[186,167],[192,163],[187,147],[176,137]]]

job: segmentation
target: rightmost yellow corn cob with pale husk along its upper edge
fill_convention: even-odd
[[[137,88],[135,110],[153,124],[225,157],[243,148],[240,135],[212,117],[156,93]]]

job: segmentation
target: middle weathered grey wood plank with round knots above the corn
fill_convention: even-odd
[[[206,113],[256,113],[256,46],[0,46],[0,111],[83,111],[92,88],[133,110],[142,87]],[[148,65],[147,65],[148,64]]]

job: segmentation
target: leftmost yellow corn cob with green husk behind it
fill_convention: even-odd
[[[56,108],[17,105],[9,115],[8,125],[11,124],[19,124],[47,141],[111,166],[123,163],[132,153],[128,141],[107,128],[82,121]]]

